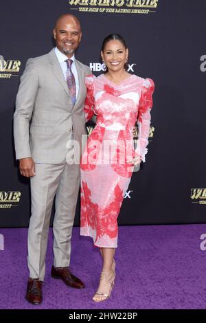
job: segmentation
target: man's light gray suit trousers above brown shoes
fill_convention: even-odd
[[[71,254],[71,232],[80,185],[80,165],[35,164],[31,178],[32,216],[28,231],[27,263],[31,278],[45,278],[45,257],[52,204],[54,216],[54,266],[67,267]]]

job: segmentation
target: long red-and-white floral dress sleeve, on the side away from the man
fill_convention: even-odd
[[[141,89],[141,98],[139,100],[137,126],[138,139],[136,153],[140,155],[141,161],[145,162],[145,155],[148,153],[148,137],[150,134],[150,111],[152,109],[152,93],[155,90],[155,84],[152,79],[146,78]]]

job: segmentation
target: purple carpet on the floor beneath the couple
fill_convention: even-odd
[[[71,271],[86,288],[76,290],[51,278],[52,230],[47,249],[43,303],[24,299],[27,284],[27,229],[0,229],[0,309],[205,309],[206,250],[201,234],[206,225],[119,227],[116,280],[111,298],[91,300],[101,269],[98,248],[73,229]],[[1,248],[2,249],[2,248]]]

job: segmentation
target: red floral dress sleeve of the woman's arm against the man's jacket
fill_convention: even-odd
[[[86,76],[85,85],[87,87],[87,96],[84,102],[84,115],[86,122],[89,121],[94,115],[94,78],[92,74]]]

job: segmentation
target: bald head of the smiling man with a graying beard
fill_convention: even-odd
[[[73,14],[62,14],[56,21],[53,33],[56,47],[71,58],[82,37],[80,21]]]

